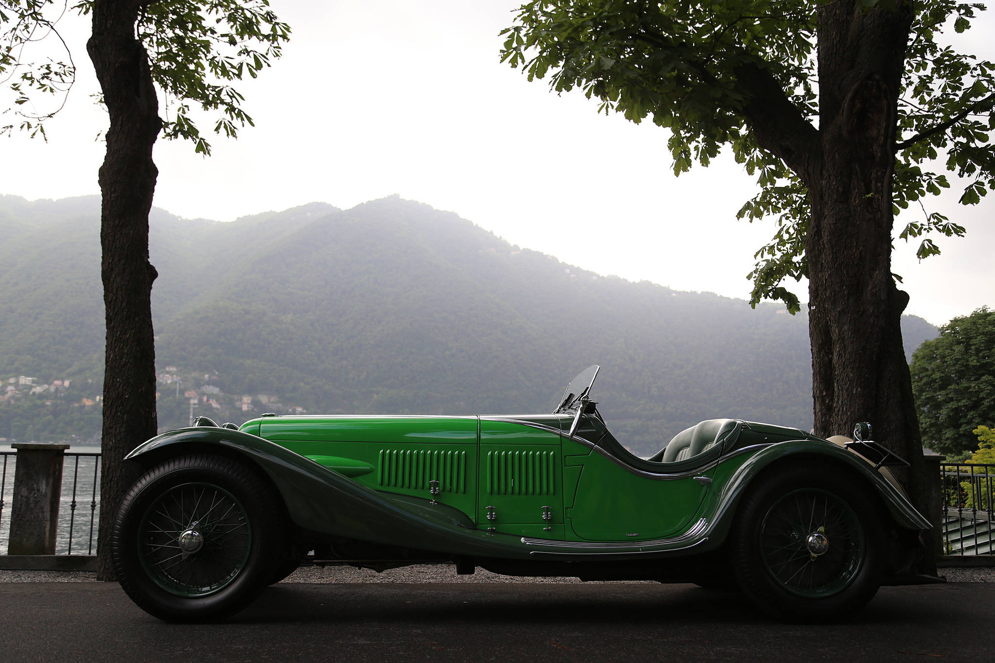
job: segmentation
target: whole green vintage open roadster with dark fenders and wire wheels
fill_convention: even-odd
[[[113,525],[128,595],[217,620],[299,565],[418,564],[738,588],[827,620],[910,575],[930,524],[870,440],[709,419],[651,458],[608,431],[592,366],[551,414],[277,416],[163,433]]]

